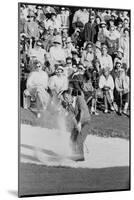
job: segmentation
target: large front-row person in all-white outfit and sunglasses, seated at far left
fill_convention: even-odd
[[[48,75],[38,60],[35,61],[35,70],[28,76],[26,86],[27,94],[37,102],[37,110],[45,110],[49,102]]]

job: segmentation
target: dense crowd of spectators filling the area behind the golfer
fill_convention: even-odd
[[[19,14],[22,96],[38,94],[44,109],[63,94],[91,114],[128,113],[129,11],[20,4]]]

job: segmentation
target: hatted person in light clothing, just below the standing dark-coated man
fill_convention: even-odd
[[[87,68],[92,69],[92,61],[94,59],[93,43],[88,42],[82,53],[81,63]]]

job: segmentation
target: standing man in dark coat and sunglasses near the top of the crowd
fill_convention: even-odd
[[[95,23],[95,16],[91,15],[89,22],[85,24],[84,28],[84,34],[85,34],[85,41],[86,42],[93,42],[95,43],[96,39],[96,23]]]

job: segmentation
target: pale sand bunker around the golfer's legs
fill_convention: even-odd
[[[129,141],[125,139],[88,135],[84,145],[83,162],[69,159],[72,153],[70,133],[65,130],[21,125],[20,140],[21,162],[75,168],[129,165]]]

